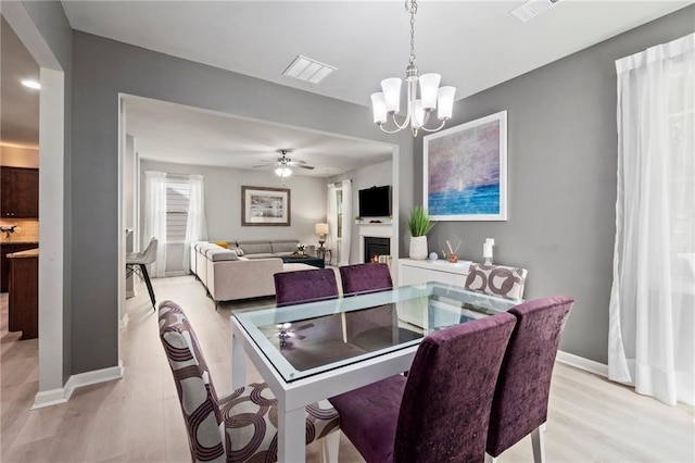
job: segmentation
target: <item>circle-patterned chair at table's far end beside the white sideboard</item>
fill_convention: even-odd
[[[526,268],[471,263],[466,289],[520,301],[523,299]]]

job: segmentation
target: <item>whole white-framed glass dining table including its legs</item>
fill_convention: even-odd
[[[231,383],[247,355],[278,400],[278,461],[305,461],[304,408],[409,368],[422,338],[518,302],[428,283],[231,314]]]

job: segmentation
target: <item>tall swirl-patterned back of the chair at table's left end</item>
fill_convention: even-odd
[[[179,305],[160,304],[160,339],[174,375],[193,462],[224,461],[219,400],[198,338]]]

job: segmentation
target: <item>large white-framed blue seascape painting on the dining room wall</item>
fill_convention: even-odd
[[[424,137],[422,202],[433,221],[507,220],[507,112]]]

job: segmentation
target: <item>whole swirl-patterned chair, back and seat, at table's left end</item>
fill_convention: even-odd
[[[193,462],[277,460],[276,399],[263,384],[251,384],[218,398],[203,352],[180,306],[160,304],[160,338],[172,367]],[[340,417],[326,400],[306,408],[306,443],[340,428]],[[334,435],[338,436],[338,435]],[[325,447],[337,459],[334,449]],[[327,439],[324,439],[327,446]]]

